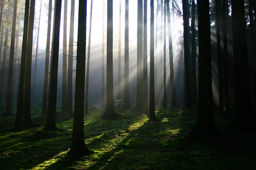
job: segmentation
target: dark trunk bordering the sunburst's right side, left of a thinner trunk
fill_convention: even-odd
[[[186,108],[191,108],[191,94],[189,85],[189,1],[182,0],[183,27],[184,27],[184,67],[185,67],[185,88],[186,88]]]

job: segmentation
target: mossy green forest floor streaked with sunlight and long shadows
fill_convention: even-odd
[[[99,119],[104,109],[84,116],[85,144],[94,153],[73,158],[72,116],[57,114],[64,132],[42,130],[45,117],[33,113],[42,125],[11,132],[15,116],[0,116],[1,170],[255,170],[256,140],[251,133],[230,131],[231,118],[215,114],[221,137],[192,139],[196,109],[157,109],[159,121],[150,122],[135,111],[117,112],[123,119]]]

